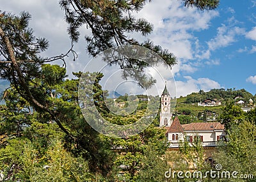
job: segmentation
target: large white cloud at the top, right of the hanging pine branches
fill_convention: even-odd
[[[170,50],[179,59],[195,59],[193,45],[196,37],[193,31],[208,29],[211,20],[218,15],[218,11],[198,11],[184,8],[180,1],[163,0],[146,4],[136,17],[143,17],[154,25],[149,37],[156,44]]]

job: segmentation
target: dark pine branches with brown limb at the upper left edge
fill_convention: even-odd
[[[40,65],[46,59],[39,53],[47,49],[48,42],[45,38],[33,36],[28,27],[29,19],[31,15],[25,12],[20,16],[4,12],[0,17],[0,52],[3,57],[0,75],[9,80],[26,100],[32,101],[38,93],[29,86],[29,81],[41,77]]]

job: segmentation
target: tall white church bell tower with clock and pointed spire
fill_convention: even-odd
[[[172,125],[172,112],[171,112],[171,96],[166,88],[161,95],[161,112],[160,112],[160,127]]]

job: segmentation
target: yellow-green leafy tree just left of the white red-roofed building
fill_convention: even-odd
[[[152,166],[154,162],[150,162],[153,156],[154,160],[160,162],[158,167],[163,169],[164,166],[161,165],[166,163],[161,158],[167,149],[165,131],[161,128],[150,126],[140,134],[127,139],[113,139],[113,146],[119,149],[116,150],[118,156],[115,163],[118,166],[122,165],[123,171],[127,171],[125,179],[128,181],[149,179],[147,174],[152,171],[152,168],[156,169],[156,166]],[[154,176],[150,179],[153,181],[161,178],[159,172],[150,175]]]

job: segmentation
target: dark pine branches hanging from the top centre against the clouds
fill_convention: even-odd
[[[129,38],[127,33],[138,32],[143,36],[152,32],[152,25],[145,19],[136,19],[132,12],[139,11],[147,1],[84,1],[61,0],[60,6],[65,11],[68,34],[72,41],[79,39],[79,27],[86,26],[92,34],[86,35],[87,50],[93,56],[99,52],[119,45],[140,45],[153,50],[170,66],[176,63],[176,58],[168,50],[162,49],[147,41],[140,43]],[[126,63],[124,63],[126,62]],[[121,68],[127,65],[140,65],[136,60],[120,61]]]

